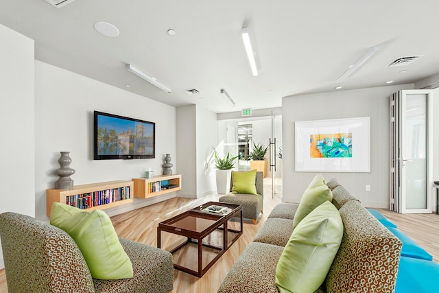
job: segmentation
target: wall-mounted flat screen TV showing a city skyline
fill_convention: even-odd
[[[156,124],[95,111],[94,159],[154,159]]]

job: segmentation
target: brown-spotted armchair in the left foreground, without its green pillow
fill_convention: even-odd
[[[132,279],[98,280],[69,234],[27,215],[0,214],[0,238],[9,293],[171,292],[172,255],[119,239],[132,262]]]

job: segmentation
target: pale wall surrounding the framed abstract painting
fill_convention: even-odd
[[[323,172],[337,178],[365,207],[390,206],[390,95],[413,84],[353,91],[334,91],[284,97],[283,110],[283,201],[299,202],[315,172],[294,171],[294,122],[370,117],[370,173]],[[365,186],[371,190],[366,191]]]

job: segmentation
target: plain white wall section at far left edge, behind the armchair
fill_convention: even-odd
[[[0,213],[34,216],[34,40],[3,25],[0,39]]]

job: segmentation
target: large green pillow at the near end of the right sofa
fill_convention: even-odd
[[[340,213],[327,201],[293,230],[276,267],[281,293],[315,292],[326,279],[343,237]]]

